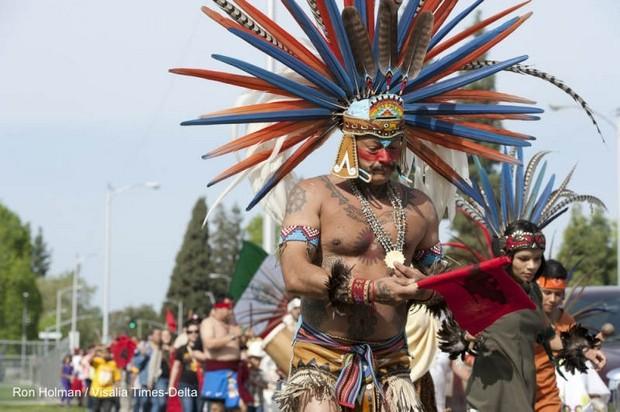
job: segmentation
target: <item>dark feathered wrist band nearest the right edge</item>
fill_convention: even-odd
[[[594,334],[588,333],[588,329],[580,324],[574,325],[568,332],[562,332],[560,338],[562,339],[562,350],[557,355],[559,363],[570,373],[574,374],[575,370],[582,373],[586,372],[588,366],[586,365],[587,358],[584,351],[596,348],[600,344],[600,339],[596,338]]]

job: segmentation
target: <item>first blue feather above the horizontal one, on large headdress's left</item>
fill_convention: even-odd
[[[259,79],[263,79],[264,81],[276,87],[289,91],[295,94],[296,96],[299,96],[304,100],[308,100],[309,102],[312,102],[318,106],[326,107],[330,109],[340,109],[340,105],[337,103],[337,101],[334,98],[326,94],[323,94],[319,92],[318,90],[315,90],[311,87],[294,82],[292,80],[287,79],[286,77],[272,73],[268,70],[265,70],[258,66],[254,66],[253,64],[246,63],[244,61],[235,59],[233,57],[222,56],[220,54],[213,54],[211,55],[211,57],[213,57],[215,60],[219,60],[226,64],[230,64],[231,66],[234,66],[240,70],[243,70],[246,73],[250,73],[258,77]]]

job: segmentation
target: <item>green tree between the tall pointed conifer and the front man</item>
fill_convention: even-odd
[[[218,207],[211,222],[211,267],[215,273],[229,278],[241,249],[241,220],[241,210],[235,205],[230,212]]]

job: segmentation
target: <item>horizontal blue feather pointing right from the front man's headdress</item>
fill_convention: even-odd
[[[409,103],[405,113],[437,116],[450,114],[525,114],[543,113],[544,110],[532,106],[511,106],[500,104],[454,104],[454,103]]]

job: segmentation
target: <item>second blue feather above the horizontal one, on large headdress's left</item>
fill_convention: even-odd
[[[266,54],[270,55],[274,59],[280,61],[282,64],[291,68],[295,72],[299,73],[300,75],[302,75],[304,78],[308,79],[315,85],[321,87],[322,89],[326,91],[329,91],[337,95],[341,99],[346,99],[347,95],[345,94],[344,90],[338,87],[337,84],[335,84],[334,82],[332,82],[325,76],[321,75],[320,73],[317,73],[314,69],[309,67],[307,64],[291,56],[284,50],[278,47],[275,47],[271,43],[268,43],[265,40],[259,37],[256,37],[250,33],[247,33],[243,30],[231,28],[229,29],[229,31],[237,35],[238,37],[241,37],[243,40],[247,41],[248,43],[250,43],[252,46],[256,47],[257,49],[265,52]]]

